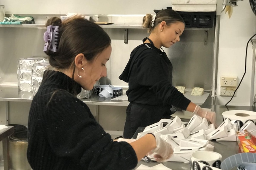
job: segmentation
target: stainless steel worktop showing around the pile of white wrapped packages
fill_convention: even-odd
[[[252,107],[252,106],[219,106],[219,105],[203,105],[203,108],[212,108],[212,111],[216,112],[216,117],[217,117],[217,124],[221,124],[222,123],[222,113],[224,111],[228,111],[228,110],[249,110],[249,111],[256,111],[256,107]],[[182,119],[182,121],[188,122],[189,120],[187,119]],[[136,138],[138,135],[138,132],[142,132],[144,129],[144,127],[140,127],[137,129],[137,131],[135,132],[135,135],[133,138]],[[239,147],[237,142],[233,142],[233,141],[215,141],[215,140],[211,140],[212,142],[214,142],[214,151],[218,152],[222,155],[222,161],[225,160],[227,157],[240,153]],[[140,161],[137,165],[136,168],[138,168],[138,166],[140,166],[141,164],[146,165],[146,166],[155,166],[157,164],[159,164],[158,162],[151,162],[151,163],[146,163],[145,161]],[[167,166],[170,169],[173,170],[190,170],[190,163],[183,163],[183,162],[165,162],[163,163],[165,166]],[[136,169],[135,168],[135,169]],[[233,168],[234,170],[236,168]],[[232,170],[233,170],[232,169]]]

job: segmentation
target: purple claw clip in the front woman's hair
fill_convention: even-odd
[[[49,25],[44,33],[45,46],[43,51],[57,51],[58,37],[59,37],[59,26]]]

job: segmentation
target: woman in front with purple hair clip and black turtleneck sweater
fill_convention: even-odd
[[[156,161],[173,153],[154,134],[138,140],[113,141],[88,106],[76,98],[81,87],[91,90],[111,54],[111,40],[99,25],[72,17],[50,18],[44,52],[55,70],[45,71],[29,111],[27,158],[33,170],[133,169],[149,152]],[[128,140],[127,140],[128,141]]]

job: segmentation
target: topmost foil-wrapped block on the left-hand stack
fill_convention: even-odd
[[[44,57],[20,58],[18,59],[18,69],[31,70],[32,65],[39,62],[45,62],[45,58]]]

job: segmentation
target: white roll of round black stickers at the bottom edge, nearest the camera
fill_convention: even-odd
[[[222,156],[213,151],[200,150],[191,154],[191,170],[202,170],[204,165],[220,169]],[[200,163],[203,163],[202,166]]]

